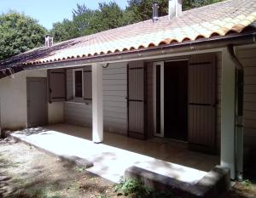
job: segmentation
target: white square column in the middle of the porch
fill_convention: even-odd
[[[103,141],[102,65],[91,65],[92,71],[92,141]]]

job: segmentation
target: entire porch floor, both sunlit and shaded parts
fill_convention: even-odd
[[[166,139],[137,140],[104,132],[104,142],[91,141],[91,128],[69,124],[33,127],[11,134],[57,156],[79,156],[94,163],[87,169],[118,182],[125,169],[145,168],[195,184],[219,163],[218,156],[190,151],[184,143]]]

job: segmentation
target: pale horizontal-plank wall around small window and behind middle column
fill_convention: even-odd
[[[103,124],[104,129],[114,133],[127,132],[127,69],[126,63],[109,64],[103,68]],[[72,101],[73,70],[67,70],[67,99],[65,102],[65,121],[91,127],[91,101]]]

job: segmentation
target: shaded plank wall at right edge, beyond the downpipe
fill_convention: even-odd
[[[245,151],[256,147],[256,45],[238,48],[244,66],[243,122]]]

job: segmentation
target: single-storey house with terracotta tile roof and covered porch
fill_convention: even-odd
[[[2,129],[68,122],[92,127],[95,143],[103,129],[178,139],[241,177],[256,139],[256,0],[169,3],[167,16],[3,60]]]

